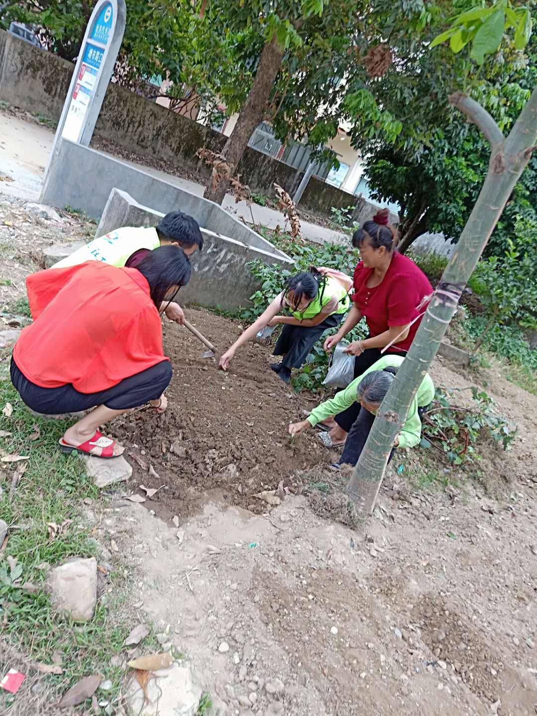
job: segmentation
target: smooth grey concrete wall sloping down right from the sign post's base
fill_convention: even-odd
[[[115,187],[128,188],[135,201],[150,204],[156,211],[166,213],[170,208],[184,211],[210,231],[286,258],[286,254],[274,248],[270,241],[230,216],[213,201],[67,140],[59,142],[57,160],[47,172],[41,201],[59,208],[69,205],[83,209],[87,216],[102,223],[102,212]],[[112,210],[109,208],[109,211]],[[125,226],[125,223],[117,223],[112,228],[117,226]]]

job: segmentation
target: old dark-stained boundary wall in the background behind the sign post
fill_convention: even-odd
[[[56,122],[62,113],[74,66],[51,52],[33,47],[19,37],[0,31],[0,100],[27,112],[41,112]],[[135,95],[110,82],[102,104],[95,134],[130,152],[167,160],[207,176],[208,168],[198,163],[198,147],[221,150],[226,137],[170,112],[166,107]],[[274,182],[291,190],[302,173],[248,147],[238,166],[241,178],[253,191],[274,194]],[[332,206],[354,205],[357,197],[311,178],[301,206],[331,216]],[[377,211],[372,207],[371,213]]]

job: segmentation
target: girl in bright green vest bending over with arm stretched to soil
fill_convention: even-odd
[[[316,269],[312,266],[309,271],[290,276],[284,290],[269,308],[223,354],[221,369],[227,370],[236,350],[266,326],[283,324],[284,329],[274,347],[274,355],[283,356],[283,359],[280,363],[271,363],[271,369],[284,383],[289,383],[291,369],[304,365],[321,335],[341,323],[349,309],[348,291],[351,285],[349,276],[324,267]],[[289,309],[291,315],[279,315],[282,309]]]

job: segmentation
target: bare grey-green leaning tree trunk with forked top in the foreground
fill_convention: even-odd
[[[490,143],[488,173],[460,240],[422,319],[407,358],[384,398],[362,450],[347,494],[362,516],[372,513],[396,435],[440,341],[455,313],[460,295],[477,265],[511,191],[531,157],[537,139],[537,89],[505,139],[492,117],[477,102],[458,92],[450,103],[478,125]]]

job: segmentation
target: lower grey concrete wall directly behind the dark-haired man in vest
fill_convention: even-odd
[[[126,192],[114,189],[95,236],[120,226],[155,226],[163,216],[163,213],[137,203]],[[179,292],[181,305],[220,306],[226,310],[248,306],[250,296],[259,285],[246,264],[256,258],[293,269],[294,261],[274,247],[272,251],[266,251],[205,228],[201,232],[203,251],[195,251],[190,257],[192,278]],[[266,243],[271,246],[268,241]]]

